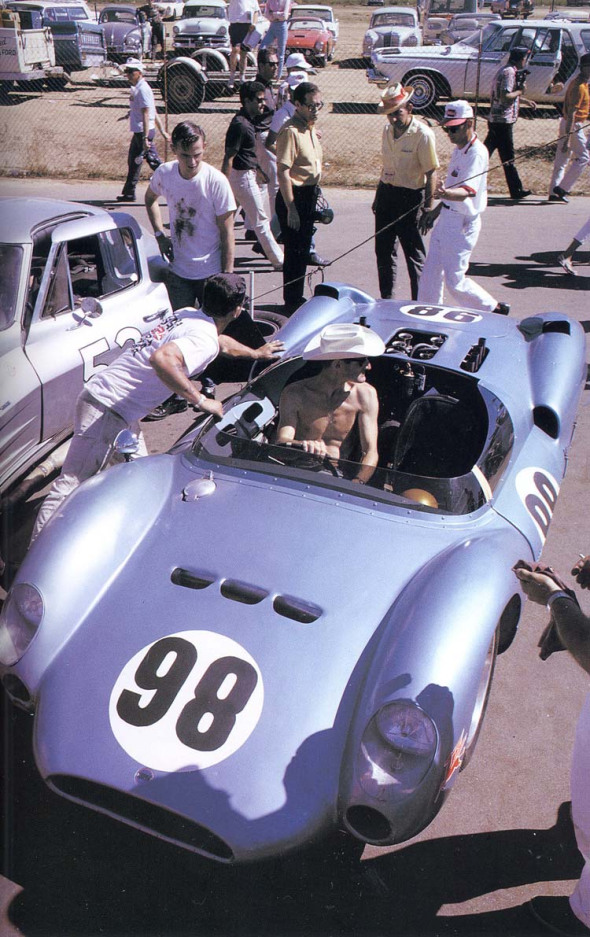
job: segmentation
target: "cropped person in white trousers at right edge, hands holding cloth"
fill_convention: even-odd
[[[584,615],[574,593],[553,570],[531,571],[520,563],[515,573],[529,599],[546,605],[551,620],[539,646],[542,660],[553,651],[568,650],[574,660],[590,674],[590,618]],[[583,557],[572,569],[578,585],[590,588],[590,556]],[[576,740],[571,771],[572,820],[578,849],[584,859],[580,880],[568,898],[537,896],[529,907],[547,932],[569,937],[590,934],[590,694],[586,697],[576,726]]]

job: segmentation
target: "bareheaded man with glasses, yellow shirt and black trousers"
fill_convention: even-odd
[[[276,212],[285,250],[283,300],[287,315],[304,301],[305,271],[322,175],[322,147],[315,124],[324,106],[320,89],[309,81],[295,88],[293,104],[295,113],[277,137]]]

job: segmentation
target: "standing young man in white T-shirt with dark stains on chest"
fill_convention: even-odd
[[[234,215],[231,186],[203,159],[205,132],[185,120],[172,131],[176,157],[152,176],[145,205],[163,257],[170,261],[168,293],[173,309],[202,303],[207,277],[231,273]],[[164,231],[158,198],[168,203],[170,236]]]

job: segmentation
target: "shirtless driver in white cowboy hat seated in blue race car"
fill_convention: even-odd
[[[378,462],[379,402],[367,383],[370,358],[382,355],[385,345],[362,325],[328,325],[308,342],[306,361],[322,361],[319,374],[289,384],[279,402],[277,445],[295,443],[305,452],[329,459],[350,459],[357,426],[361,457],[353,482],[369,481]]]

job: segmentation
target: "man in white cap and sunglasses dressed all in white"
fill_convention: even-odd
[[[441,199],[432,211],[424,212],[420,226],[425,233],[434,222],[428,255],[420,278],[418,301],[448,302],[482,312],[508,315],[510,306],[499,303],[475,280],[466,276],[471,252],[481,229],[481,214],[487,205],[489,155],[473,130],[473,108],[467,101],[450,101],[442,120],[445,133],[455,144],[447,177],[434,195]]]

